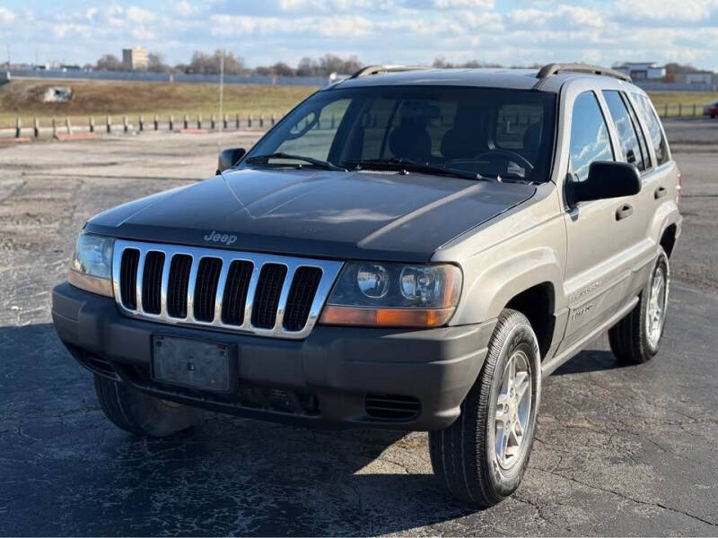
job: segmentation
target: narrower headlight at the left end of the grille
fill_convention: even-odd
[[[112,247],[115,239],[85,232],[77,238],[67,280],[85,291],[113,297]]]

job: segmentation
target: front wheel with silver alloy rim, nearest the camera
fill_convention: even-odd
[[[528,377],[520,404],[503,396],[509,360],[525,366]],[[514,372],[518,374],[518,368]],[[529,464],[533,434],[540,402],[541,360],[536,334],[529,320],[516,310],[504,309],[498,318],[481,373],[461,404],[459,418],[445,430],[429,432],[429,452],[433,472],[447,490],[474,507],[488,508],[511,495],[521,483]],[[502,396],[503,402],[498,402]],[[522,402],[528,404],[522,407]],[[501,406],[506,417],[513,418],[514,410],[522,409],[525,421],[521,442],[513,438],[509,461],[497,453],[497,409]],[[520,421],[521,425],[521,421]],[[502,434],[503,439],[503,434]],[[506,450],[503,454],[508,455]],[[501,461],[500,461],[501,459]]]

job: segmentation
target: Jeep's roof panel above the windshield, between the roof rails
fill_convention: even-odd
[[[534,89],[539,80],[543,80],[540,91],[557,92],[568,79],[577,77],[594,77],[606,79],[599,74],[575,73],[562,71],[546,79],[537,78],[537,69],[439,69],[416,68],[402,71],[381,72],[355,78],[349,78],[328,86],[332,88],[363,88],[369,86],[399,86],[399,85],[426,85],[426,86],[477,86],[483,88],[504,88],[509,90]]]

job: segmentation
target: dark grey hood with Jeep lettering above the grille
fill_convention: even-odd
[[[120,205],[86,230],[197,247],[420,262],[535,191],[416,173],[241,169]]]

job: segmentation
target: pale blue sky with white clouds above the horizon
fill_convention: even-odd
[[[225,48],[246,65],[477,59],[690,63],[718,70],[718,0],[0,0],[0,61],[93,64],[143,47],[171,65]]]

